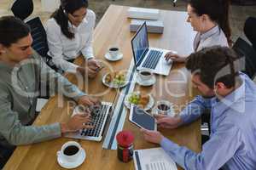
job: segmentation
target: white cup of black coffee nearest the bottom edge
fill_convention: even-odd
[[[61,150],[57,152],[57,156],[61,156],[65,161],[74,162],[82,156],[81,145],[75,141],[69,141],[61,146]]]

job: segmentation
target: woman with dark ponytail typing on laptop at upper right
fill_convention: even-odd
[[[195,52],[214,45],[231,46],[229,8],[229,0],[189,0],[187,22],[197,31]],[[186,57],[168,53],[166,60],[168,59],[184,62]]]

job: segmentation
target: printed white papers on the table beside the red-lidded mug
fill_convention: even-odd
[[[134,150],[136,170],[177,170],[175,162],[162,148]]]

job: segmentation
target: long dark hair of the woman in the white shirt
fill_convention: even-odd
[[[54,18],[61,26],[61,32],[69,39],[72,39],[74,34],[68,29],[67,14],[73,14],[79,8],[88,8],[87,0],[61,0],[60,8],[50,15],[50,18]]]

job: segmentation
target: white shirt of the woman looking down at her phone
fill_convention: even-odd
[[[76,27],[68,21],[68,26],[74,33],[74,38],[67,38],[62,32],[61,27],[54,18],[46,22],[47,42],[49,46],[48,55],[52,57],[56,67],[67,72],[76,72],[79,65],[68,62],[67,59],[75,59],[83,54],[84,59],[93,56],[92,34],[95,26],[96,14],[87,9],[86,16],[82,23]]]

